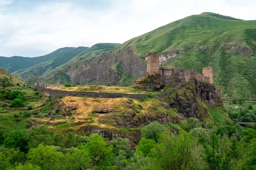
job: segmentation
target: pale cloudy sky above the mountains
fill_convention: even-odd
[[[256,0],[0,0],[0,56],[123,43],[207,11],[256,20],[255,6]]]

